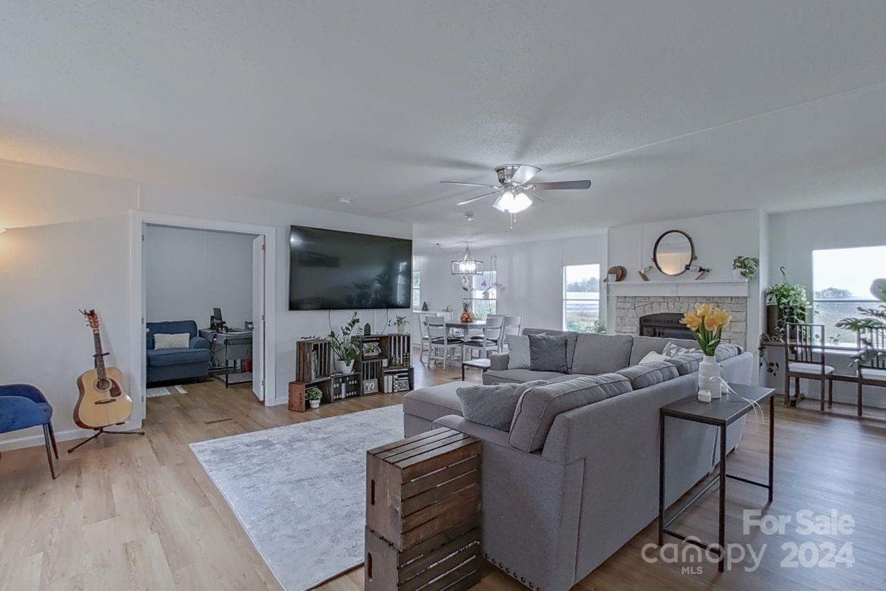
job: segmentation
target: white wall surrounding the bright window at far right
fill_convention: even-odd
[[[804,209],[769,216],[769,283],[781,283],[779,267],[784,266],[787,279],[792,283],[802,283],[806,286],[806,293],[812,297],[812,251],[886,245],[884,220],[886,201]],[[883,262],[881,276],[886,277],[886,262]],[[838,374],[854,372],[845,355],[828,355],[827,360]],[[783,388],[780,377],[767,377],[774,388]],[[807,396],[818,398],[817,384],[811,387],[804,382],[803,390]],[[855,384],[835,382],[834,398],[854,404]],[[886,389],[865,386],[865,405],[886,407]]]

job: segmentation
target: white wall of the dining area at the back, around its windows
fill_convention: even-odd
[[[471,248],[471,253],[491,270],[491,256],[498,256],[496,279],[505,288],[498,294],[496,311],[523,316],[524,327],[560,328],[563,324],[563,265],[600,264],[606,273],[606,235],[603,233],[567,240],[526,242],[497,248]],[[454,251],[418,256],[422,297],[431,310],[447,305],[462,309],[461,276],[452,274]],[[419,303],[418,305],[421,305]],[[602,317],[605,303],[601,301]]]

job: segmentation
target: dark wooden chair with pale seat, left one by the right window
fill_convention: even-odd
[[[828,382],[828,406],[834,405],[834,368],[825,364],[825,351],[821,343],[825,339],[823,324],[789,322],[785,327],[785,402],[790,401],[790,378],[794,378],[794,390],[800,395],[800,380],[817,380],[821,384],[820,412],[825,412],[825,382]]]

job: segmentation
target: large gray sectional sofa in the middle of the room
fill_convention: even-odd
[[[571,374],[507,369],[507,356],[494,356],[486,383],[548,380],[520,398],[510,431],[462,416],[456,390],[467,382],[415,390],[403,401],[407,437],[449,427],[483,440],[484,555],[534,589],[572,587],[655,520],[658,409],[697,391],[691,360],[633,367],[672,339],[574,335],[571,341]],[[752,355],[723,351],[724,378],[750,383]],[[730,449],[743,427],[740,420],[727,429]],[[666,437],[671,505],[715,466],[717,430],[674,421]]]

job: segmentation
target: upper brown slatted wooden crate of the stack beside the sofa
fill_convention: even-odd
[[[366,524],[403,551],[480,513],[481,443],[434,429],[366,453]]]

